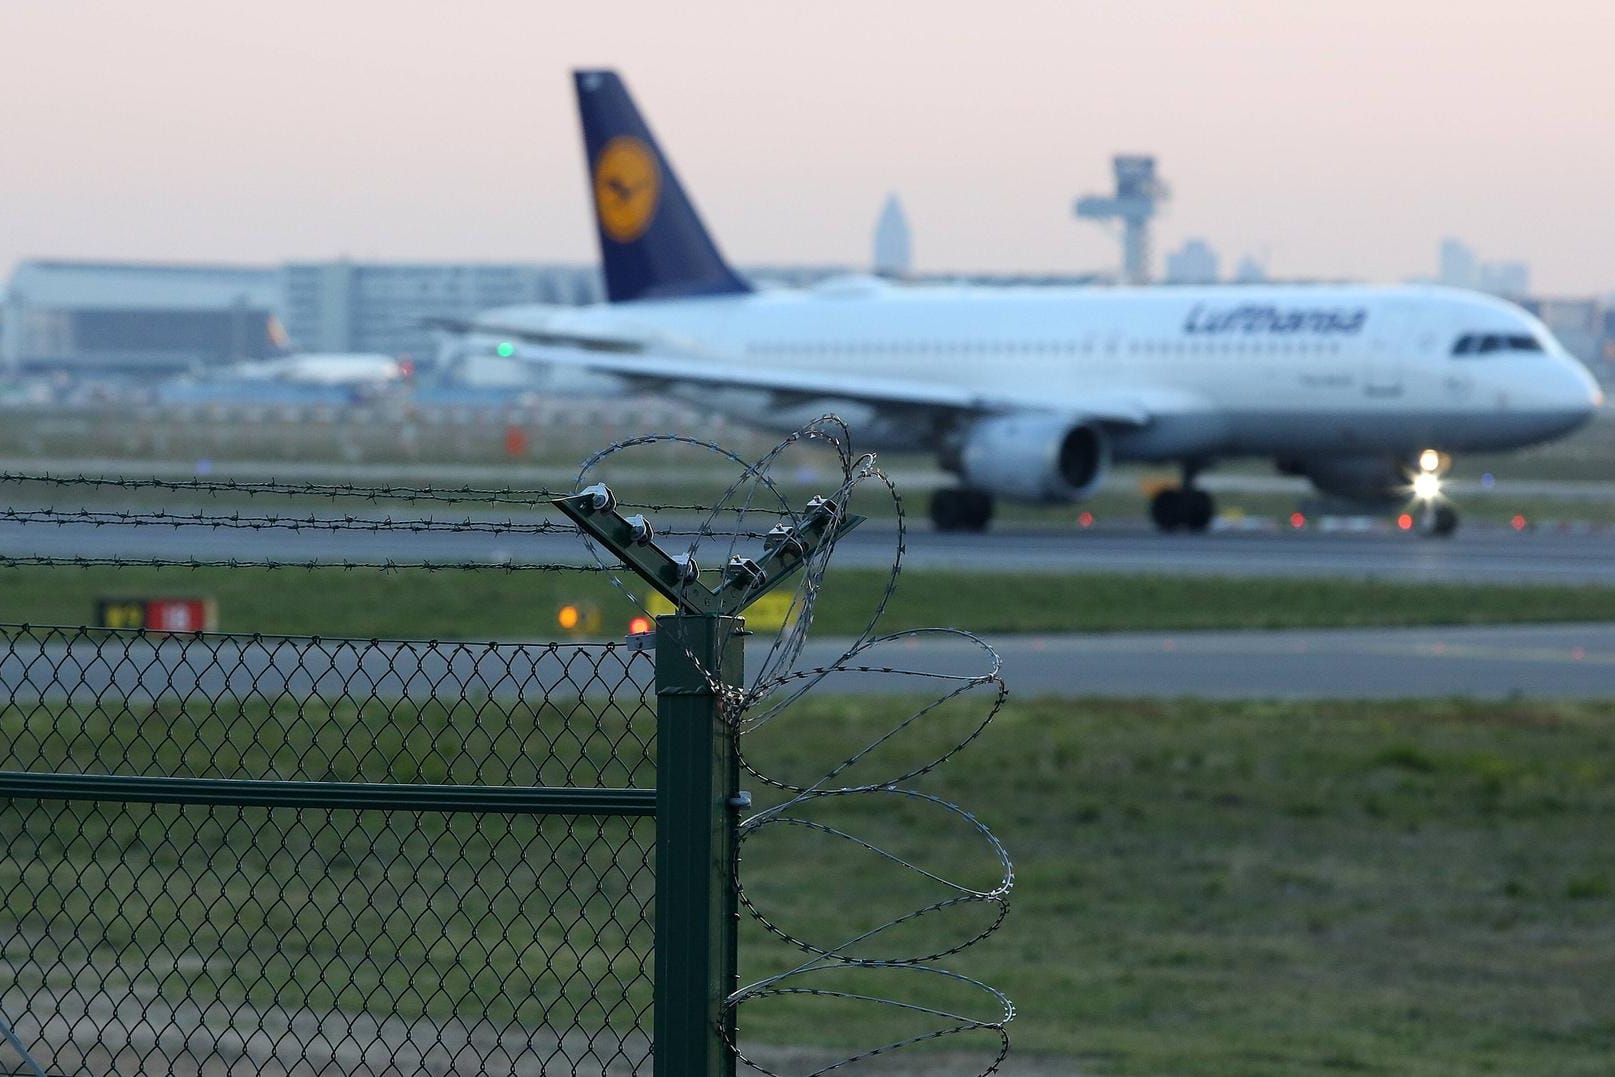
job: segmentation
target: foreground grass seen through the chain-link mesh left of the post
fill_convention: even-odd
[[[0,769],[649,786],[641,738],[654,741],[654,719],[638,693],[612,706],[599,691],[609,683],[588,699],[573,688],[554,707],[536,691],[18,702],[0,706]],[[244,1037],[262,1040],[292,1016],[308,1061],[250,1072],[381,1072],[352,1062],[373,1046],[399,1051],[391,1058],[410,1072],[449,1072],[476,1056],[468,1045],[444,1066],[444,1043],[470,1038],[486,1053],[512,1022],[536,1058],[575,1030],[643,1046],[652,848],[643,817],[3,798],[0,1008],[13,1020],[52,1019],[47,1069],[76,1074],[108,1072],[87,1043],[118,1051],[142,1037],[218,1035],[231,1061]],[[392,1038],[371,1043],[355,1014],[391,1022]],[[328,1033],[312,1035],[313,1024]],[[434,1050],[438,1059],[407,1064],[409,1051]],[[223,1072],[215,1064],[197,1072]]]

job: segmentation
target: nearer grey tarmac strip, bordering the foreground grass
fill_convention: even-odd
[[[757,672],[770,643],[748,639]],[[1615,625],[1352,628],[1005,636],[988,643],[1016,696],[1203,696],[1214,699],[1403,699],[1615,696]],[[845,639],[811,641],[795,668],[833,662]],[[627,693],[649,706],[652,664],[620,647],[588,647],[580,675],[570,644],[392,644],[247,636],[65,638],[13,631],[0,651],[0,691],[15,702],[84,698],[478,698],[520,702]],[[967,677],[988,668],[969,641],[914,636],[858,665]],[[942,683],[891,673],[838,673],[816,694],[912,694]]]

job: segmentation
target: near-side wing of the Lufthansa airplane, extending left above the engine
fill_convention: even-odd
[[[536,346],[543,349],[541,362],[615,375],[651,392],[675,386],[751,389],[774,394],[780,405],[853,400],[883,409],[942,412],[951,418],[1027,409],[1024,400],[919,379],[759,368],[728,360],[691,358],[673,354],[672,347],[659,347],[656,341],[515,329],[486,323],[472,325],[470,329]],[[1143,400],[1126,396],[1077,400],[1072,402],[1074,407],[1061,404],[1063,410],[1124,426],[1143,426],[1151,417],[1151,409]],[[1050,405],[1042,402],[1040,407]]]

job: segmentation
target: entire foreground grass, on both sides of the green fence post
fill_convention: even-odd
[[[329,717],[415,748],[397,752],[378,740],[357,770],[334,777],[417,780],[420,759],[460,751],[467,706],[417,715],[410,706],[355,714],[344,704]],[[95,757],[202,773],[236,773],[231,761],[247,759],[236,751],[242,736],[273,759],[328,717],[310,704],[273,714],[255,704],[245,722],[216,709],[178,714],[113,699],[97,707],[107,720],[89,727]],[[896,707],[803,704],[751,738],[748,754],[774,772],[822,770],[846,744],[888,730]],[[950,743],[967,717],[882,751],[919,757]],[[0,719],[19,728],[16,710]],[[535,709],[507,720],[518,743],[549,723],[552,751],[567,752],[568,740],[552,735],[559,719]],[[78,757],[73,722],[36,710],[29,765]],[[313,754],[297,748],[297,775],[367,736]],[[186,751],[192,743],[236,748],[197,754]],[[1048,1072],[1609,1072],[1615,702],[1011,701],[985,736],[916,786],[975,811],[1014,856],[1003,930],[940,964],[1008,991],[1019,1008],[1016,1051],[1043,1058]],[[52,938],[78,922],[60,951],[58,990],[78,962],[102,954],[155,977],[166,1004],[216,993],[237,1020],[250,1017],[239,1006],[354,1012],[396,1003],[418,1022],[488,1006],[497,1020],[598,1027],[607,1011],[609,1022],[627,1020],[644,1004],[643,951],[628,945],[643,943],[628,893],[648,882],[636,867],[644,836],[612,825],[598,832],[604,844],[589,844],[594,827],[413,820],[139,806],[42,812],[13,801],[0,809],[11,853],[0,857],[0,916],[13,925],[6,958],[39,953],[40,932]],[[835,822],[938,874],[980,883],[995,875],[979,838],[924,806],[848,801]],[[746,843],[745,880],[799,937],[845,938],[924,898],[924,885],[864,870],[867,861],[848,859],[845,846],[832,857],[772,833]],[[34,853],[19,862],[24,848]],[[37,914],[27,907],[36,893],[47,899]],[[580,917],[593,927],[568,932]],[[921,946],[958,927],[922,924],[909,932]],[[748,979],[795,959],[751,920],[741,954]],[[37,967],[23,967],[36,983]],[[79,990],[116,995],[116,977],[90,964],[84,975],[92,967]],[[557,985],[573,970],[617,975],[628,991],[580,1008],[581,982]],[[862,987],[890,985],[877,977]],[[741,1027],[751,1043],[808,1048],[856,1048],[890,1033],[869,1008],[822,998],[743,1009]]]

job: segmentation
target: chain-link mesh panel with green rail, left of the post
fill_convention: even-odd
[[[0,627],[0,1072],[649,1072],[651,681]]]

